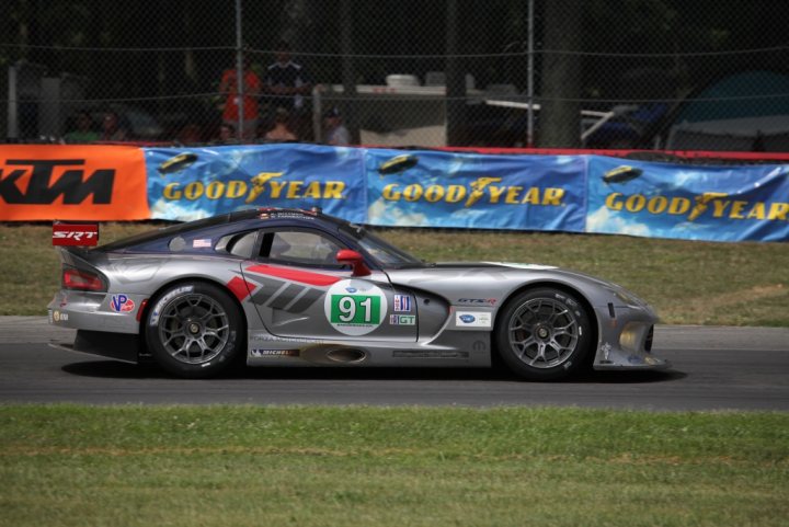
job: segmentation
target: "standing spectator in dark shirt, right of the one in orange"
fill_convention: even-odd
[[[304,108],[304,95],[311,89],[307,72],[290,59],[290,46],[284,41],[277,44],[276,61],[268,66],[263,83],[268,94],[266,102],[270,115],[283,107],[298,116]]]

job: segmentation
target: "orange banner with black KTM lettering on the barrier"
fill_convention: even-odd
[[[148,218],[140,148],[0,146],[0,220]]]

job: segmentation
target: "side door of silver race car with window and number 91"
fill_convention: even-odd
[[[352,276],[338,263],[348,249],[323,231],[279,228],[261,232],[260,251],[242,265],[251,301],[270,333],[331,342],[415,342],[416,302],[386,273]]]

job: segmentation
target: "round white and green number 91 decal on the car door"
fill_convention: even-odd
[[[387,314],[387,300],[384,291],[369,282],[342,280],[327,291],[323,309],[335,330],[358,336],[381,324]]]

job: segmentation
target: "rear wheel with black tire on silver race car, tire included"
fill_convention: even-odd
[[[214,377],[242,353],[242,313],[218,286],[195,282],[161,291],[146,317],[146,342],[167,371],[187,379]]]

